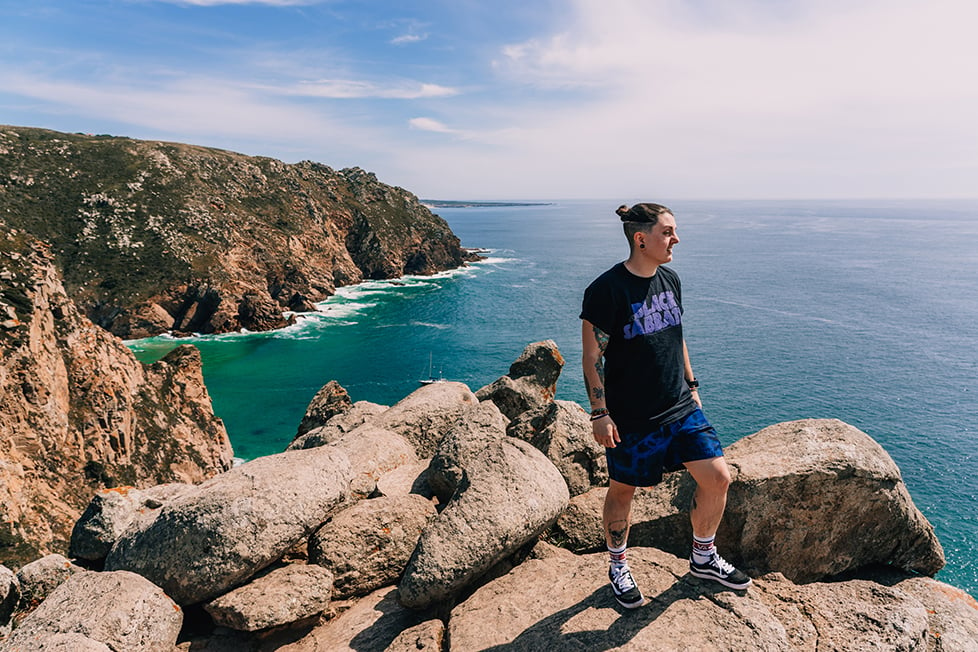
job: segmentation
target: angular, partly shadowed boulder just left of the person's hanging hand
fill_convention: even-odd
[[[540,449],[564,476],[571,496],[608,483],[604,447],[594,441],[588,414],[577,403],[553,401],[527,410],[506,432]]]

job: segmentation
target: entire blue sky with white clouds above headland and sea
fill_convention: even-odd
[[[974,0],[0,0],[0,124],[427,199],[978,197]]]

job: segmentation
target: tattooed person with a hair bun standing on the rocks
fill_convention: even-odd
[[[610,476],[603,522],[618,603],[645,603],[626,559],[629,513],[637,487],[685,467],[696,481],[690,508],[692,576],[746,589],[751,579],[717,553],[730,472],[716,431],[702,411],[699,382],[683,338],[682,287],[672,261],[676,219],[653,203],[616,211],[628,238],[624,262],[585,290],[581,309],[584,382],[595,441]]]

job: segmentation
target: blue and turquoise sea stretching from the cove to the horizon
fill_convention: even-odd
[[[978,201],[666,202],[684,328],[724,443],[780,421],[838,418],[900,466],[978,595]],[[625,257],[616,202],[437,209],[485,261],[371,282],[276,333],[191,338],[235,453],[281,451],[325,382],[392,404],[428,375],[473,390],[553,339],[561,399],[585,403],[580,296]],[[131,343],[144,361],[176,345]]]

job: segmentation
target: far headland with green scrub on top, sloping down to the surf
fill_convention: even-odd
[[[471,256],[359,168],[0,126],[0,219],[51,245],[68,295],[126,338],[268,330],[365,278]]]

